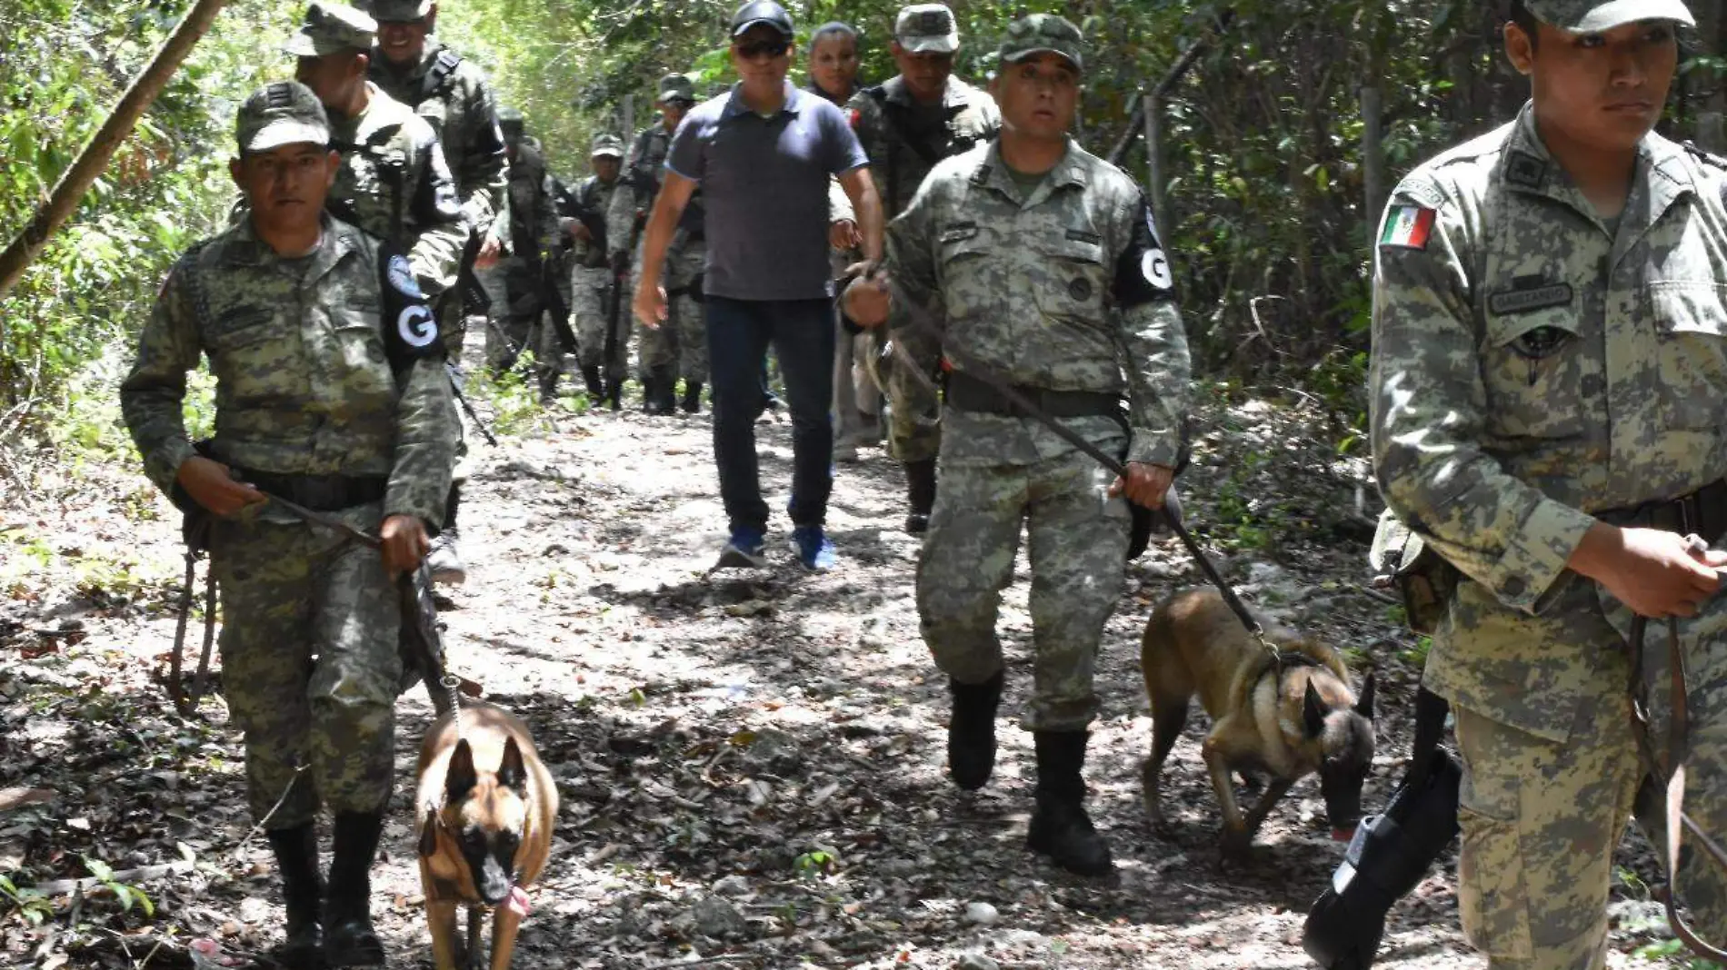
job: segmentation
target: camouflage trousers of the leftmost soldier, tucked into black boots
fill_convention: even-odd
[[[361,506],[344,518],[373,528],[378,513]],[[245,732],[252,818],[276,799],[269,828],[313,822],[319,801],[378,811],[395,768],[402,671],[401,602],[378,551],[306,525],[223,521],[211,568],[221,589],[223,692]]]

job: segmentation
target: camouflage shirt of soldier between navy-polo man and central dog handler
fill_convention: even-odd
[[[914,129],[917,107],[900,76],[851,95],[846,114],[869,155],[869,171],[888,219],[905,211],[936,162],[969,152],[1002,129],[995,98],[953,76],[941,95],[943,123],[926,131]]]

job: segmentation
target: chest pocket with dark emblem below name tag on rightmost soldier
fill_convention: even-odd
[[[1482,354],[1489,428],[1506,438],[1570,438],[1606,390],[1572,305],[1487,318]]]

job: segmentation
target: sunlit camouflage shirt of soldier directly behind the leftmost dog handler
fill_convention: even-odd
[[[330,112],[342,167],[325,205],[342,221],[395,242],[428,295],[456,285],[468,223],[432,126],[368,83],[357,117]]]

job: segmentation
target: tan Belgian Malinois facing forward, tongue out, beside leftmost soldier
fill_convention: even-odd
[[[508,970],[532,885],[551,853],[558,787],[528,728],[503,708],[461,708],[461,737],[440,716],[420,746],[420,885],[437,970],[477,965],[456,927],[456,906],[490,906],[490,970]],[[475,948],[478,941],[468,941]]]

